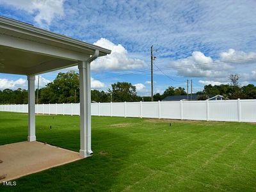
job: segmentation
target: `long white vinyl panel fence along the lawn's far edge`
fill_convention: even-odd
[[[36,104],[36,113],[79,115],[76,104]],[[28,104],[0,105],[0,111],[28,113]],[[92,115],[180,120],[256,122],[256,99],[92,103]]]

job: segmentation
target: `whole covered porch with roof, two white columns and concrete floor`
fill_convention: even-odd
[[[3,163],[0,163],[0,176],[6,174],[1,166],[5,163],[14,163],[13,158],[17,158],[12,155],[12,152],[13,154],[15,152],[24,154],[24,156],[19,157],[20,162],[22,158],[27,159],[28,162],[36,162],[37,160],[33,159],[36,158],[33,156],[36,153],[33,151],[38,148],[38,152],[40,150],[45,152],[45,159],[54,157],[55,159],[52,159],[52,162],[58,162],[51,164],[51,166],[58,166],[92,156],[90,63],[97,57],[105,56],[110,52],[108,49],[35,28],[30,24],[0,17],[0,72],[28,77],[28,141],[0,146],[0,160],[3,161]],[[79,154],[76,155],[74,152],[67,152],[65,149],[38,143],[35,126],[35,76],[75,65],[79,67],[81,114],[80,150]],[[20,148],[21,146],[24,146],[24,148]],[[4,152],[6,148],[9,148],[9,154]],[[72,156],[71,159],[70,156]],[[59,161],[61,158],[63,161]],[[27,166],[35,166],[34,163]],[[38,171],[41,170],[44,170],[44,168],[38,169]],[[30,172],[36,172],[36,170],[30,170]],[[23,175],[26,175],[26,173]],[[6,178],[8,178],[8,175]]]

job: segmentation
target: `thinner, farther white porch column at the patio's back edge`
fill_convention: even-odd
[[[28,76],[28,141],[36,140],[35,76]]]

